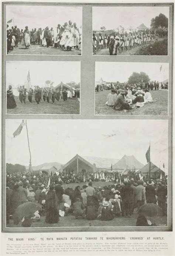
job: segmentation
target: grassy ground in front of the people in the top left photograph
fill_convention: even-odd
[[[29,49],[25,49],[25,45],[19,45],[17,48],[14,48],[13,51],[9,52],[10,54],[37,54],[37,55],[81,55],[81,49],[74,49],[72,51],[67,51],[66,49],[54,48],[52,47],[43,47],[42,45],[30,45]]]

